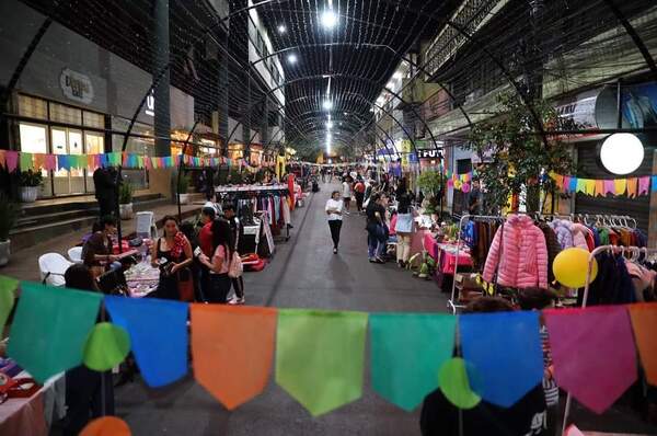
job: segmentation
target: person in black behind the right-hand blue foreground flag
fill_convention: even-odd
[[[468,313],[512,310],[511,303],[499,297],[480,297],[465,308]],[[424,400],[419,428],[423,436],[545,436],[545,415],[541,383],[508,409],[482,400],[473,409],[459,410],[437,389]]]

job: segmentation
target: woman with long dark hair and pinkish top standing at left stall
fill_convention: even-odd
[[[228,269],[234,246],[230,223],[224,219],[215,220],[212,222],[212,257],[205,254],[198,256],[198,261],[210,271],[210,291],[206,295],[208,302],[226,305],[231,287]]]

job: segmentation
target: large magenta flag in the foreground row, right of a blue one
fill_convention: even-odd
[[[636,348],[623,306],[545,310],[556,383],[600,414],[636,381]],[[613,356],[603,359],[602,356]]]

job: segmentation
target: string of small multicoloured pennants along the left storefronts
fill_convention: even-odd
[[[45,154],[28,153],[23,151],[0,150],[0,168],[9,172],[15,170],[71,170],[87,169],[93,171],[97,168],[118,167],[128,169],[164,169],[180,165],[181,161],[188,167],[216,168],[222,164],[249,167],[244,159],[201,158],[188,154],[169,157],[149,157],[138,153],[113,151],[97,154]],[[273,162],[263,162],[262,167],[274,165]]]

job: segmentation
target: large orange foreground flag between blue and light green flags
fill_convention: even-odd
[[[260,394],[274,362],[277,310],[191,305],[194,377],[227,409]]]

